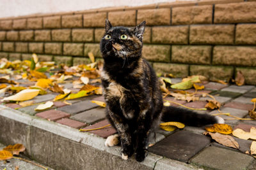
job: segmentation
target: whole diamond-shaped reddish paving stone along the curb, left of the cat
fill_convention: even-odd
[[[47,110],[40,113],[36,113],[37,117],[45,118],[47,120],[56,121],[61,118],[70,117],[70,114],[60,110]]]

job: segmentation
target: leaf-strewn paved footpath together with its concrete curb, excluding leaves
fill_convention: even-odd
[[[4,74],[1,74],[4,76]],[[20,85],[29,86],[28,80]],[[172,78],[172,83],[181,79]],[[71,88],[72,83],[63,84]],[[221,103],[220,111],[239,118],[250,118],[251,100],[256,97],[253,85],[224,85],[204,82],[202,92],[211,94]],[[189,90],[188,90],[189,91]],[[190,90],[193,92],[193,90]],[[194,90],[195,91],[195,90]],[[36,96],[34,103],[51,101],[58,94],[49,91],[43,96]],[[191,108],[204,108],[209,97],[200,97],[199,101],[176,101]],[[2,96],[3,99],[3,96]],[[173,97],[166,97],[175,101]],[[63,103],[54,101],[54,106],[44,111],[35,111],[38,104],[21,107],[17,103],[0,105],[0,143],[13,145],[22,143],[26,146],[25,155],[45,164],[52,169],[256,169],[255,158],[250,153],[252,140],[235,138],[239,150],[216,143],[205,136],[204,127],[188,127],[173,132],[156,129],[150,136],[148,157],[143,162],[136,162],[134,157],[122,160],[120,146],[104,146],[105,139],[116,131],[106,127],[95,131],[81,132],[79,129],[94,129],[108,125],[104,108],[91,101],[104,101],[100,95],[81,97]],[[172,103],[171,103],[172,104]],[[173,104],[173,106],[178,106]],[[218,110],[198,111],[214,114]],[[256,120],[237,120],[226,115],[226,124],[233,129],[250,132],[256,127]],[[8,164],[8,163],[7,163]]]

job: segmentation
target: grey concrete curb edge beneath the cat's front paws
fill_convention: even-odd
[[[125,161],[120,146],[106,147],[104,138],[1,105],[0,129],[1,142],[24,144],[29,157],[54,169],[196,169],[153,153],[141,163]]]

